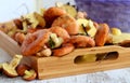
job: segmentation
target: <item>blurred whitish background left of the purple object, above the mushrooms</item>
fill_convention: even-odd
[[[74,0],[0,0],[0,23],[29,12],[39,11],[40,8],[55,5],[55,2],[75,3]]]

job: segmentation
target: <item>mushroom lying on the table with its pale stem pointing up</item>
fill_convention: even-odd
[[[11,78],[17,77],[18,74],[15,68],[17,67],[22,58],[22,55],[15,55],[10,64],[4,63],[2,65],[4,74]]]

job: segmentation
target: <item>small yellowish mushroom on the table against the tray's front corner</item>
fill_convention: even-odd
[[[31,81],[35,80],[37,77],[37,73],[34,69],[30,70],[25,70],[25,75],[23,77],[24,80],[26,81]]]

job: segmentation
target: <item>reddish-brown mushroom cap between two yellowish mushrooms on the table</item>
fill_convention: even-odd
[[[16,67],[16,71],[18,73],[20,77],[23,77],[25,74],[25,71],[30,69],[30,67],[28,67],[27,65],[25,64],[20,64],[17,67]]]

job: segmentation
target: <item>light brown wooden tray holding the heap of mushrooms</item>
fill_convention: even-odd
[[[21,54],[21,49],[17,43],[1,31],[0,47],[6,51],[11,56]],[[117,58],[93,63],[75,63],[76,57],[81,55],[109,52],[116,52],[118,54]],[[77,49],[63,57],[24,57],[23,63],[30,65],[37,71],[38,79],[51,79],[130,67],[130,49],[117,45]]]

